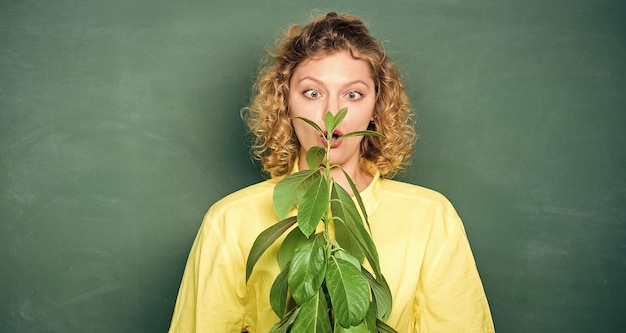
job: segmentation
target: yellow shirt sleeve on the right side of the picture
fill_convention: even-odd
[[[463,224],[446,203],[428,237],[417,291],[416,332],[495,332]]]

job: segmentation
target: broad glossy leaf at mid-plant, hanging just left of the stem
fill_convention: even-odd
[[[324,281],[326,255],[324,237],[321,234],[307,240],[296,248],[289,264],[289,288],[298,305],[313,297]]]

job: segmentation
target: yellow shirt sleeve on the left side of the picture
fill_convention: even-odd
[[[196,236],[169,333],[241,332],[245,327],[236,249],[224,241],[222,219],[209,210]]]

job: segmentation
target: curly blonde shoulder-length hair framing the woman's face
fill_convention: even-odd
[[[288,28],[286,36],[268,51],[251,104],[242,109],[253,136],[251,154],[271,177],[291,172],[300,149],[287,107],[291,75],[304,60],[337,51],[349,51],[367,61],[376,86],[374,122],[369,129],[383,136],[363,138],[361,167],[367,170],[369,161],[382,176],[392,177],[408,164],[417,135],[398,67],[357,16],[328,13],[304,27]]]

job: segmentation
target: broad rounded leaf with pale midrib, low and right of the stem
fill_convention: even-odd
[[[370,289],[360,269],[348,261],[331,257],[326,270],[326,287],[341,326],[363,321],[369,308]]]

